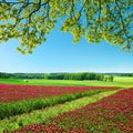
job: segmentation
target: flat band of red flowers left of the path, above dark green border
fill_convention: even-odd
[[[0,102],[20,101],[34,98],[49,98],[98,89],[116,89],[114,86],[41,86],[0,84]]]

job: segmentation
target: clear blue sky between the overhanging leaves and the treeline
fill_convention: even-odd
[[[84,39],[73,44],[72,35],[58,29],[32,54],[20,54],[17,45],[19,40],[0,44],[0,72],[133,72],[133,52]]]

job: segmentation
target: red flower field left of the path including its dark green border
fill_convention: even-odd
[[[1,85],[0,120],[115,88]],[[3,95],[2,95],[3,94]],[[14,95],[14,96],[13,96]]]

